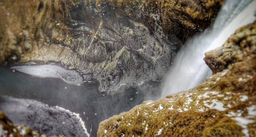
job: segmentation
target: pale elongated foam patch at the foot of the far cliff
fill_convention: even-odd
[[[41,78],[60,78],[68,84],[81,85],[83,77],[74,70],[66,70],[57,65],[21,65],[10,67],[16,71]]]

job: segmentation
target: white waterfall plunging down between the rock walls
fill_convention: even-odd
[[[204,81],[212,73],[203,60],[204,53],[224,44],[236,29],[253,23],[255,10],[256,0],[226,0],[213,27],[195,36],[179,52],[166,77],[161,97],[188,90]]]

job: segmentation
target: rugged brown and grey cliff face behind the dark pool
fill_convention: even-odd
[[[0,62],[57,61],[99,91],[159,81],[177,51],[209,26],[222,0],[0,2]]]

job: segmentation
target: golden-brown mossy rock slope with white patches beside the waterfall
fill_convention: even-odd
[[[256,136],[256,22],[205,55],[205,82],[102,121],[97,135]]]

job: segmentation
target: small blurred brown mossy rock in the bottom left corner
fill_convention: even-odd
[[[13,124],[3,113],[0,111],[0,136],[9,137],[47,137],[46,134],[40,134],[37,130],[30,130],[25,125]],[[51,137],[65,137],[65,136],[51,136]]]

